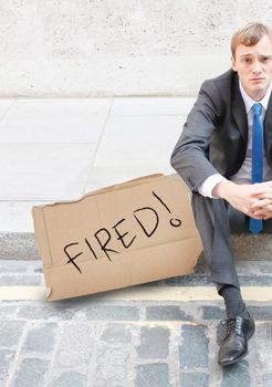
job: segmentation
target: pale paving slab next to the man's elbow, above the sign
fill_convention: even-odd
[[[169,166],[170,155],[182,129],[180,116],[111,116],[94,166]]]

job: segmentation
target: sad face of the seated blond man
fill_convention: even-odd
[[[263,35],[255,45],[239,44],[231,62],[245,93],[254,101],[262,100],[272,80],[272,42],[269,36]]]

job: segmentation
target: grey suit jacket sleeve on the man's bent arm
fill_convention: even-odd
[[[187,117],[170,164],[192,191],[218,170],[209,161],[211,137],[222,115],[221,97],[213,81],[206,81]]]

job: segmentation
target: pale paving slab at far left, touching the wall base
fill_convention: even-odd
[[[97,143],[111,106],[111,98],[18,100],[0,121],[1,144]]]

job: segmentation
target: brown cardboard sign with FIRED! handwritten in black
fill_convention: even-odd
[[[201,251],[177,175],[35,206],[32,215],[50,301],[191,273]]]

